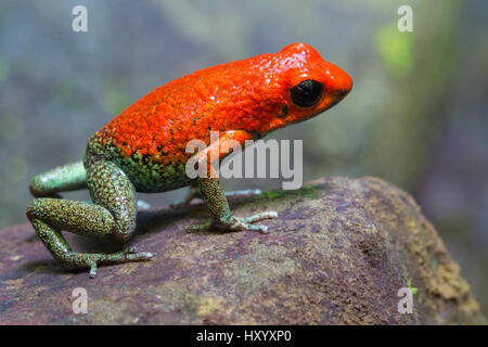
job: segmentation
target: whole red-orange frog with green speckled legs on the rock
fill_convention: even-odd
[[[34,177],[27,219],[53,258],[67,271],[144,261],[155,254],[129,245],[134,234],[137,192],[163,193],[190,187],[189,196],[206,204],[209,222],[195,228],[222,232],[268,232],[259,223],[278,217],[260,211],[234,216],[211,162],[208,175],[188,175],[189,160],[204,163],[211,151],[222,160],[230,142],[245,146],[271,131],[310,119],[336,105],[352,88],[350,76],[322,59],[306,43],[292,43],[277,53],[218,64],[169,81],[125,108],[88,142],[81,160]],[[210,141],[210,132],[217,141]],[[189,152],[194,139],[208,144]],[[205,165],[205,164],[202,164]],[[91,202],[63,198],[60,193],[87,189]],[[113,253],[74,252],[62,232],[106,239]]]

